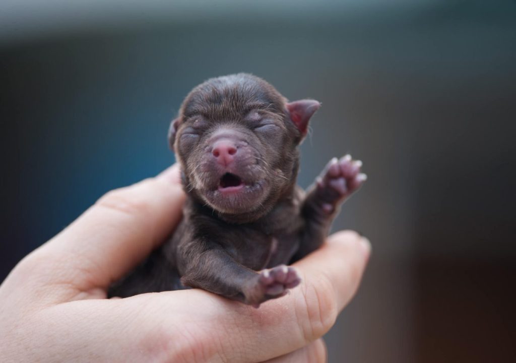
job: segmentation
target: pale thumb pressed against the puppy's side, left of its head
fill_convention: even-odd
[[[24,263],[57,273],[57,281],[49,278],[56,284],[105,289],[164,242],[181,218],[183,201],[179,168],[173,166],[107,193]]]

